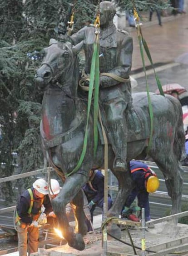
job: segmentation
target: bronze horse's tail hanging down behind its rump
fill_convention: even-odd
[[[177,99],[173,96],[169,96],[168,99],[172,102],[174,113],[176,113],[176,126],[175,126],[175,136],[173,143],[174,155],[177,157],[178,161],[183,161],[186,158],[185,153],[185,132],[183,129],[183,112],[182,106],[179,102],[177,104]]]

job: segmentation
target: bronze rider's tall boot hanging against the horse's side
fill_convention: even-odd
[[[110,140],[115,154],[114,171],[127,171],[127,125],[123,119],[110,124]]]

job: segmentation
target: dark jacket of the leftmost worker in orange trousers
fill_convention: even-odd
[[[32,221],[36,221],[40,215],[41,212],[41,206],[44,205],[45,207],[45,214],[48,215],[50,211],[52,210],[52,206],[49,200],[49,196],[45,195],[44,200],[36,197],[33,193],[34,188],[31,187],[32,195],[33,195],[33,206],[31,213],[28,213],[28,210],[30,208],[31,204],[31,196],[28,190],[25,190],[21,196],[19,201],[16,205],[16,211],[20,218],[20,221],[23,223],[31,224]]]

